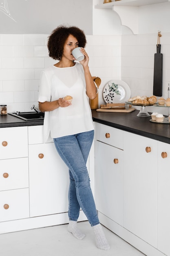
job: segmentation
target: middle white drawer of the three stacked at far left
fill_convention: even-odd
[[[0,160],[0,191],[28,187],[28,157]]]

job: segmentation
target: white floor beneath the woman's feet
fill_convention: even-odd
[[[86,234],[83,240],[74,238],[67,224],[1,234],[0,256],[144,256],[105,227],[110,250],[97,249],[90,224],[78,225]]]

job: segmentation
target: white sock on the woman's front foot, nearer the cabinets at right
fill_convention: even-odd
[[[95,232],[95,241],[97,248],[102,250],[109,250],[110,246],[108,244],[108,241],[106,240],[101,224],[93,226],[93,231]]]

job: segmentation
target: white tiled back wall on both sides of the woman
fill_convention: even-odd
[[[48,35],[0,35],[0,104],[8,112],[30,111],[38,106],[38,87],[42,70],[56,63],[48,56]],[[87,36],[92,76],[99,76],[99,104],[102,88],[111,79],[121,78],[121,36]]]

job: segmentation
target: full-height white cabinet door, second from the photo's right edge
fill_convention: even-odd
[[[157,141],[130,132],[124,132],[124,227],[157,247]]]

